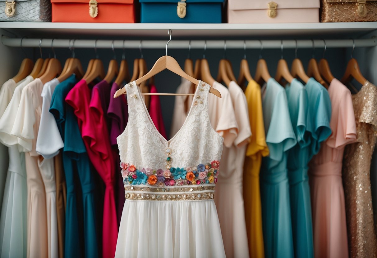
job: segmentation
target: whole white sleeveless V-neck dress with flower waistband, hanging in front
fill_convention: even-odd
[[[200,82],[182,128],[167,141],[135,82],[129,120],[117,138],[126,201],[115,257],[225,257],[213,201],[223,138],[208,117],[209,85]]]

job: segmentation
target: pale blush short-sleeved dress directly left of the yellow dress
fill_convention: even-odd
[[[249,257],[242,192],[243,164],[251,129],[247,101],[236,82],[228,86],[239,130],[230,148],[222,150],[222,173],[215,190],[216,209],[219,214],[222,240],[227,257]]]

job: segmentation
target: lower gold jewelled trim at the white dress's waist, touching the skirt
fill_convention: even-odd
[[[126,199],[148,200],[148,201],[187,201],[187,200],[210,200],[214,193],[186,193],[186,194],[146,194],[146,193],[126,193]]]

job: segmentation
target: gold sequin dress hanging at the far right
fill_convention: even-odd
[[[376,144],[377,88],[367,81],[352,102],[357,142],[346,146],[343,158],[349,256],[372,258],[377,257],[377,237],[369,174]]]

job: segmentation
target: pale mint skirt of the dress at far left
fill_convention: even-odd
[[[27,200],[25,153],[11,146],[0,217],[0,257],[26,257]]]

